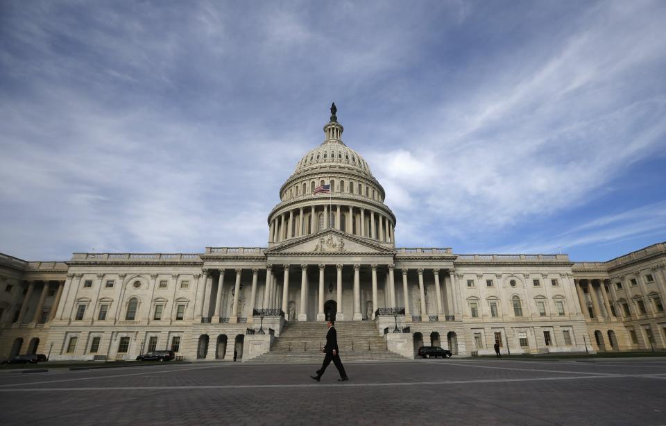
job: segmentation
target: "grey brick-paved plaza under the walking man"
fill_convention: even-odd
[[[429,359],[333,365],[198,363],[0,371],[0,422],[233,425],[658,425],[666,359]]]

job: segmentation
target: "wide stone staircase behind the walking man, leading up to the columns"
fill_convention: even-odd
[[[347,361],[404,361],[405,357],[386,350],[384,337],[371,321],[340,321],[335,324],[338,348],[343,363]],[[321,364],[326,344],[327,327],[324,322],[287,323],[275,338],[271,352],[259,355],[248,362],[293,362]]]

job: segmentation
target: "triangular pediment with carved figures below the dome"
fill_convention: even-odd
[[[390,255],[394,250],[375,244],[355,235],[349,235],[336,229],[327,229],[313,235],[306,235],[274,246],[264,253],[311,253],[311,254],[343,254],[343,253],[377,253]]]

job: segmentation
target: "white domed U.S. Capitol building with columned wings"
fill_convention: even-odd
[[[334,108],[323,130],[280,188],[267,247],[0,255],[0,358],[230,359],[235,348],[244,360],[299,359],[318,349],[308,323],[327,318],[351,343],[345,357],[413,357],[429,344],[484,355],[496,341],[512,354],[665,348],[666,244],[581,263],[396,247],[384,188],[343,143]]]

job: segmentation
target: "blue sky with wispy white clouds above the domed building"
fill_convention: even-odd
[[[666,240],[663,1],[0,2],[0,252],[266,246],[332,101],[398,246]]]

